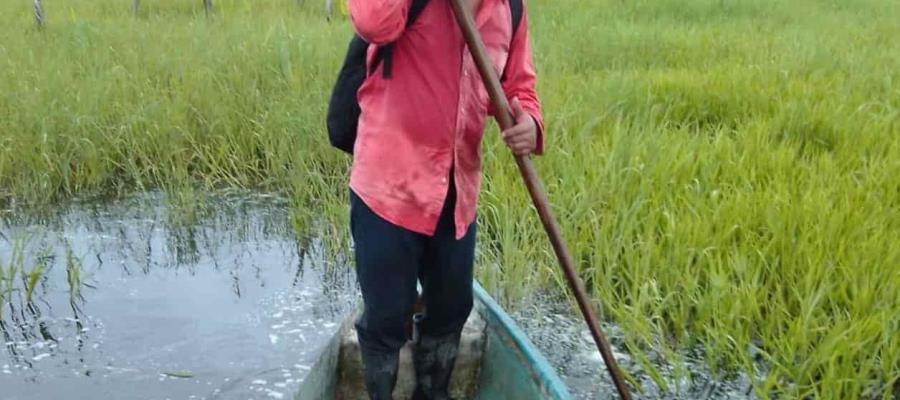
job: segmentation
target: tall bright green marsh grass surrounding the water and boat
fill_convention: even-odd
[[[344,249],[348,161],[323,118],[346,21],[316,2],[222,1],[211,21],[144,3],[45,1],[38,32],[30,2],[0,0],[0,196],[283,191],[299,230]],[[629,350],[765,365],[763,397],[896,397],[900,5],[530,6],[536,164]],[[479,276],[512,304],[564,282],[511,157],[486,147]]]

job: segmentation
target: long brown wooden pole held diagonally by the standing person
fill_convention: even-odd
[[[500,124],[500,128],[505,130],[514,126],[512,110],[509,107],[509,102],[506,100],[506,95],[503,93],[503,88],[500,86],[500,78],[497,76],[497,72],[494,70],[490,58],[488,58],[487,50],[484,48],[484,42],[481,40],[478,30],[475,28],[475,21],[472,18],[472,12],[469,10],[468,3],[467,0],[452,0],[451,5],[453,6],[453,13],[456,15],[456,22],[462,30],[469,51],[472,53],[472,58],[475,60],[475,64],[478,66],[478,71],[481,73],[484,85],[487,88],[488,94],[491,96],[491,102],[494,105],[494,109],[499,110],[499,112],[496,113],[497,122]],[[584,285],[581,283],[581,279],[578,278],[578,274],[575,272],[575,263],[572,261],[572,256],[569,254],[569,250],[563,240],[559,225],[550,209],[550,203],[547,201],[547,195],[544,193],[541,180],[538,178],[534,166],[531,165],[531,159],[522,156],[516,156],[515,158],[516,164],[519,167],[519,172],[525,180],[525,186],[528,188],[528,193],[531,195],[531,200],[534,202],[534,207],[538,211],[541,223],[543,223],[544,229],[550,237],[553,251],[559,259],[559,264],[562,266],[563,272],[566,275],[569,287],[575,294],[575,299],[578,301],[578,307],[581,309],[581,313],[584,315],[584,319],[591,331],[591,336],[594,338],[594,343],[596,343],[597,349],[600,350],[600,354],[603,355],[606,369],[609,371],[613,383],[616,385],[619,396],[622,399],[630,400],[631,394],[628,391],[628,387],[625,385],[625,380],[622,378],[622,373],[619,371],[616,359],[612,356],[606,338],[603,336],[603,332],[600,331],[600,325],[597,323],[597,316],[585,294]]]

